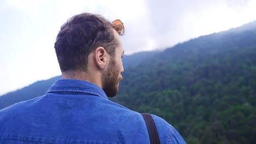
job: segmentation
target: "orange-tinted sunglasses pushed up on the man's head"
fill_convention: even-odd
[[[120,20],[114,20],[112,22],[112,26],[109,26],[109,27],[106,27],[106,28],[110,28],[110,27],[113,27],[115,29],[115,31],[118,32],[119,35],[124,34],[124,24]],[[106,28],[98,29],[98,31],[94,34],[94,37],[92,37],[92,39],[90,40],[90,43],[92,43],[95,40],[95,37],[96,37],[98,32],[100,32],[100,31],[102,31],[103,29],[106,29]]]

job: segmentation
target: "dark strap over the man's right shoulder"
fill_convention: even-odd
[[[158,129],[156,129],[156,127],[155,127],[154,119],[152,118],[152,116],[149,113],[141,113],[141,115],[143,116],[143,118],[147,124],[150,143],[151,144],[158,144],[158,143],[160,144]]]

